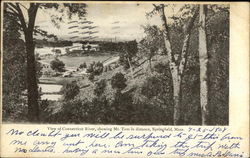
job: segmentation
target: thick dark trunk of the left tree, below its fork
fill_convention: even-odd
[[[28,89],[28,119],[39,122],[38,85],[36,78],[35,44],[33,31],[25,31],[25,44],[27,53],[27,89]]]

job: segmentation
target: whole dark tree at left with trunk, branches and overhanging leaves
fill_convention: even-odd
[[[39,105],[38,105],[38,85],[36,76],[36,62],[35,62],[35,42],[33,34],[35,31],[35,21],[38,9],[59,8],[56,3],[29,3],[25,6],[21,3],[5,3],[4,10],[15,17],[17,23],[22,28],[27,59],[27,89],[28,89],[28,117],[31,122],[39,122]],[[77,14],[83,17],[86,14],[86,4],[69,4],[63,3],[64,9],[68,8],[68,15],[71,18],[72,14]],[[24,13],[26,12],[26,13]],[[25,16],[27,14],[27,16]],[[27,18],[27,19],[26,19]],[[59,26],[58,22],[62,17],[52,16],[52,22]]]

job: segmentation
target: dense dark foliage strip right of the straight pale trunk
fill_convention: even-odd
[[[229,5],[207,5],[208,111],[210,125],[229,124]],[[200,106],[200,105],[199,105]]]

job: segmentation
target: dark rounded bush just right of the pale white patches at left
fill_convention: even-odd
[[[68,101],[74,99],[79,94],[80,88],[76,81],[72,81],[63,85],[61,92],[63,93],[64,100]]]

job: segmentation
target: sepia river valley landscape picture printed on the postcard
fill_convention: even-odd
[[[229,4],[3,2],[2,122],[229,125]]]

